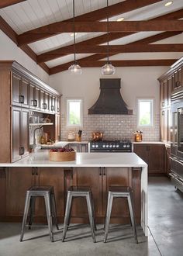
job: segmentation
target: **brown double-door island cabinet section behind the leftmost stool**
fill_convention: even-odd
[[[63,175],[62,168],[6,168],[4,178],[6,191],[5,214],[2,219],[22,220],[26,191],[32,185],[53,185],[57,216],[63,216]],[[1,178],[0,182],[2,182]],[[3,216],[3,214],[0,214],[0,216]],[[46,220],[45,203],[42,198],[36,199],[35,217],[37,221]]]

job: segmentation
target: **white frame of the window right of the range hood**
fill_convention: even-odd
[[[140,125],[140,102],[150,102],[150,124],[148,125]],[[154,126],[154,98],[136,99],[136,126],[140,128]]]

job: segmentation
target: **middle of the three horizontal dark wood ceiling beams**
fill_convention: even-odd
[[[135,47],[134,47],[135,45]],[[105,54],[107,53],[108,47],[106,45],[83,45],[78,46],[75,50],[76,54]],[[109,45],[110,54],[121,54],[121,53],[145,53],[145,52],[183,52],[183,43],[170,43],[170,44],[126,44],[126,45]],[[59,50],[60,54],[73,54],[74,46],[64,47]]]

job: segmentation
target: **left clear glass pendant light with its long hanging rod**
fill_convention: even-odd
[[[80,65],[76,61],[76,37],[75,37],[75,6],[73,0],[73,36],[74,36],[74,64],[72,64],[68,70],[71,71],[71,74],[81,74],[82,70]]]

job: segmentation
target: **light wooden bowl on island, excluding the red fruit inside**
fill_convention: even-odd
[[[53,151],[49,152],[49,160],[50,161],[74,161],[76,159],[75,151]]]

